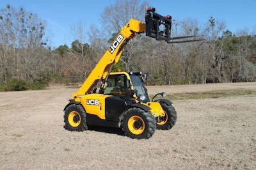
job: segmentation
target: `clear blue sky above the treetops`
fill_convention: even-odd
[[[115,0],[0,0],[0,8],[10,4],[15,8],[23,7],[27,12],[36,13],[47,22],[47,35],[51,37],[52,47],[58,47],[73,41],[70,27],[82,21],[86,30],[92,24],[100,27],[100,14]],[[213,16],[225,21],[227,29],[236,33],[247,28],[256,31],[255,0],[148,0],[161,15],[172,15],[173,19],[197,19],[204,24]]]

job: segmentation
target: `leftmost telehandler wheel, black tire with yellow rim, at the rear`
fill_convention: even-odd
[[[86,125],[86,112],[80,104],[69,105],[64,112],[64,128],[70,131],[84,131]]]

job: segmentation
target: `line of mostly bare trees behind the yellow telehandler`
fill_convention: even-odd
[[[131,8],[124,8],[131,6]],[[102,12],[104,31],[83,24],[72,27],[74,41],[52,49],[45,21],[8,5],[0,9],[0,90],[44,88],[48,84],[83,83],[129,19],[143,21],[146,2],[116,1]],[[115,9],[115,10],[113,10]],[[104,17],[103,17],[104,16]],[[124,17],[125,16],[125,17]],[[256,80],[256,35],[232,33],[210,17],[173,20],[172,36],[199,35],[205,41],[168,44],[137,35],[124,49],[113,71],[147,72],[147,85],[245,82]]]

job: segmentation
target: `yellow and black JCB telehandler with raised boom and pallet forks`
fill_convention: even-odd
[[[146,36],[156,40],[177,43],[172,40],[182,37],[171,38],[171,26],[172,17],[163,17],[155,12],[155,8],[147,8],[145,23],[131,19],[122,27],[66,105],[64,127],[71,131],[87,130],[88,125],[118,127],[122,128],[126,136],[134,139],[148,139],[156,128],[172,128],[177,120],[172,102],[166,99],[154,100],[157,95],[164,97],[165,93],[158,93],[150,100],[144,84],[147,74],[111,73],[111,67],[120,59],[125,45],[137,34],[146,33]],[[185,38],[189,37],[192,36]]]

